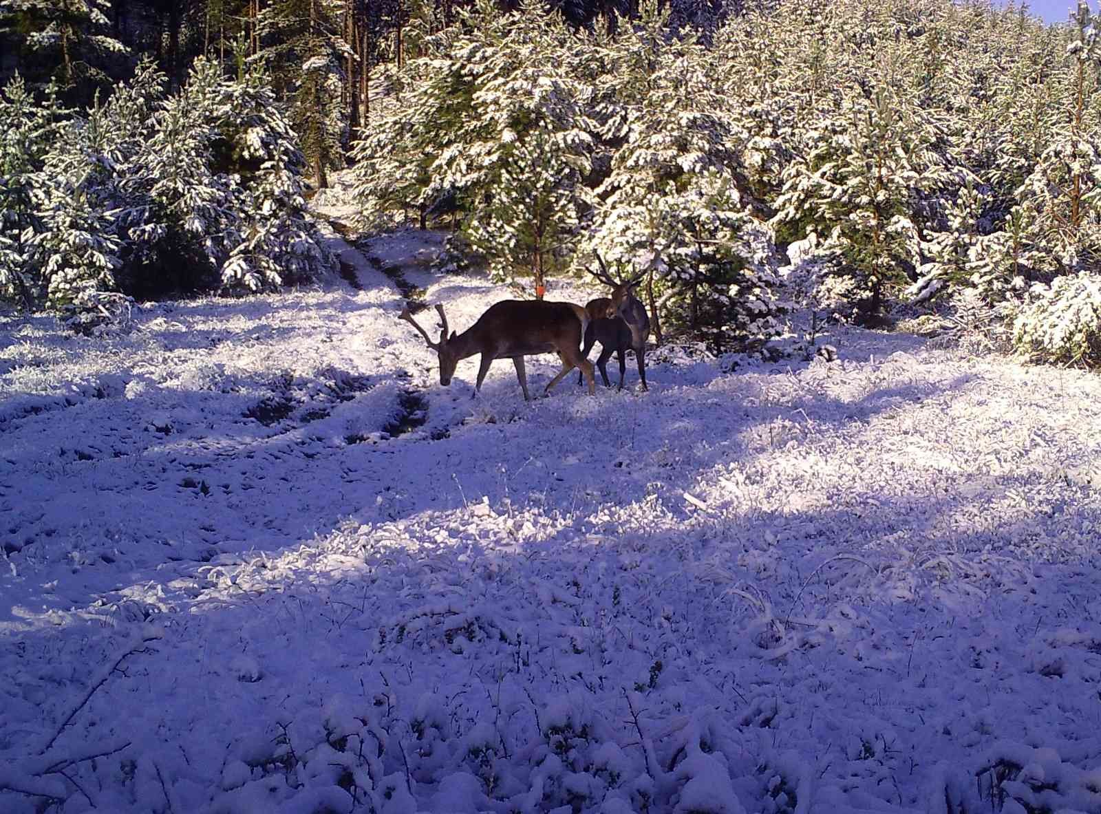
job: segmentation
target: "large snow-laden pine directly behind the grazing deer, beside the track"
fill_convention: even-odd
[[[503,18],[488,1],[462,21],[406,63],[400,102],[356,145],[356,192],[375,225],[458,208],[497,275],[545,276],[571,250],[590,169],[590,88],[570,73],[578,35],[544,10]]]

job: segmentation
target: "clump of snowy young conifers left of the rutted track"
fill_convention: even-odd
[[[36,111],[12,85],[0,105],[6,299],[62,308],[88,292],[259,291],[325,261],[302,153],[263,78],[227,80],[200,59],[179,91],[164,87],[142,63],[106,102],[55,126],[52,102]]]

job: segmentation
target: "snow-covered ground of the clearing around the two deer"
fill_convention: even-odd
[[[364,252],[461,330],[509,293],[435,242]],[[0,318],[0,811],[1101,811],[1101,378],[852,330],[471,400],[342,254]]]

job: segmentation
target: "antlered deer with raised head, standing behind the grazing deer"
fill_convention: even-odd
[[[650,337],[650,317],[642,301],[634,295],[636,287],[645,272],[635,278],[624,281],[614,280],[608,273],[604,261],[597,256],[600,263],[600,272],[589,271],[592,276],[609,285],[612,289],[610,297],[597,297],[590,300],[585,308],[589,314],[589,325],[585,330],[585,346],[581,355],[588,358],[593,343],[600,343],[600,356],[597,359],[597,367],[600,369],[600,377],[604,380],[604,387],[611,387],[608,380],[608,360],[615,354],[620,363],[620,386],[623,389],[623,380],[626,378],[626,349],[634,350],[634,358],[639,362],[639,378],[642,379],[642,389],[646,387],[646,339]],[[578,379],[578,384],[580,384]]]

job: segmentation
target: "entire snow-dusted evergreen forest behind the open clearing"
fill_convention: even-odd
[[[0,3],[0,294],[261,290],[440,226],[532,294],[646,274],[655,334],[783,315],[1101,357],[1095,18],[983,2]],[[524,289],[519,281],[530,280]],[[924,322],[922,322],[924,319]],[[896,319],[895,319],[896,321]]]

